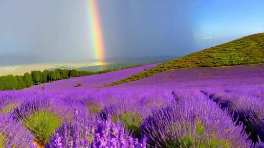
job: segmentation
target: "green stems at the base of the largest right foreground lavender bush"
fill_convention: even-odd
[[[173,127],[174,125],[172,125]],[[168,140],[163,146],[164,148],[230,148],[229,143],[224,140],[218,140],[215,135],[206,135],[208,139],[204,139],[204,129],[202,124],[195,125],[195,131],[191,131],[192,127],[188,123],[185,126],[180,125],[178,130],[179,136],[172,137],[168,135]],[[177,128],[175,129],[177,131]],[[185,131],[185,133],[181,133]],[[195,133],[193,133],[195,132]]]

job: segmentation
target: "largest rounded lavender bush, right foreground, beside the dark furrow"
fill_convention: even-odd
[[[208,98],[181,99],[156,109],[141,129],[149,147],[252,147],[243,126],[236,126],[228,111]]]

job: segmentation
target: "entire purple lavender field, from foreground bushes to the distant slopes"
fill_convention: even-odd
[[[95,88],[152,66],[0,92],[0,148],[264,147],[264,64]]]

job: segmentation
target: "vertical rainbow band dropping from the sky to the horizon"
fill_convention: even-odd
[[[96,65],[101,65],[104,63],[105,59],[105,46],[97,0],[87,0],[87,4],[89,34],[91,38],[93,58],[97,60]]]

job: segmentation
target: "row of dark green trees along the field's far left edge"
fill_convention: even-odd
[[[104,70],[98,72],[89,71],[77,71],[66,69],[55,69],[53,71],[31,71],[31,73],[25,73],[24,75],[4,75],[0,76],[0,91],[8,90],[22,90],[33,85],[39,85],[47,82],[53,82],[62,79],[68,79],[72,77],[87,76],[92,74],[103,74],[111,71],[122,70],[132,67],[138,67],[142,65],[126,66],[122,68],[115,68],[111,70]]]

